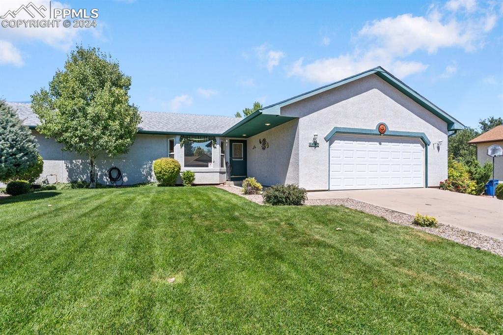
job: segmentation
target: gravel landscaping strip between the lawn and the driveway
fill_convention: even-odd
[[[235,186],[219,185],[220,189],[226,190],[228,192],[237,194],[241,197],[253,201],[260,205],[264,204],[262,195],[245,195],[242,194],[241,189]],[[389,222],[401,224],[404,226],[409,226],[414,229],[423,230],[434,235],[438,235],[452,241],[471,246],[473,248],[479,248],[482,250],[487,250],[493,254],[503,256],[503,240],[464,230],[458,227],[454,227],[448,224],[440,223],[437,227],[420,227],[412,223],[414,217],[409,214],[400,213],[387,208],[375,206],[368,204],[366,202],[358,201],[351,198],[340,198],[340,199],[319,199],[319,200],[307,200],[306,205],[308,206],[345,206],[348,208],[360,210],[365,213],[369,213],[376,216],[381,216],[388,220]]]

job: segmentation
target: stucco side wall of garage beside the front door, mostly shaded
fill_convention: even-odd
[[[247,176],[263,185],[299,183],[298,120],[292,120],[246,142]],[[269,148],[262,150],[259,139],[265,138]],[[254,148],[255,146],[255,148]]]

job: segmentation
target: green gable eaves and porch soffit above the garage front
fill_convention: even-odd
[[[237,136],[249,137],[259,134],[271,127],[275,127],[277,125],[280,125],[293,119],[282,116],[281,107],[291,105],[298,101],[307,99],[309,97],[323,93],[328,90],[335,89],[339,86],[345,85],[349,82],[358,80],[360,78],[372,74],[377,75],[378,77],[389,83],[389,85],[391,85],[392,87],[403,93],[405,96],[409,97],[414,102],[416,102],[429,112],[433,113],[434,115],[438,116],[441,120],[445,121],[447,123],[448,131],[460,130],[465,128],[465,126],[461,122],[456,120],[451,115],[447,114],[445,111],[443,111],[441,108],[433,104],[431,101],[429,101],[419,93],[412,90],[403,81],[401,81],[400,79],[398,79],[397,77],[386,71],[381,66],[377,66],[365,72],[352,75],[348,78],[336,82],[332,82],[328,85],[322,86],[315,90],[300,94],[298,96],[283,100],[279,103],[255,111],[253,114],[250,114],[245,119],[243,119],[242,121],[231,127],[229,130],[227,130],[224,133],[224,135],[229,137],[237,137]],[[267,124],[270,124],[270,126],[268,126]]]

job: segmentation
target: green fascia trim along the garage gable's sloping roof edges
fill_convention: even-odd
[[[276,103],[274,105],[267,106],[262,109],[263,113],[271,113],[271,114],[280,114],[280,109],[283,106],[287,106],[293,103],[296,103],[298,101],[301,101],[303,99],[312,97],[314,95],[323,93],[328,90],[332,90],[334,88],[343,86],[349,82],[358,80],[360,78],[366,77],[371,74],[376,74],[379,76],[381,79],[389,83],[391,86],[393,86],[395,89],[412,99],[414,102],[428,110],[429,112],[433,113],[434,115],[438,116],[441,120],[445,121],[447,123],[447,130],[452,131],[452,130],[460,130],[464,129],[465,126],[456,120],[454,117],[451,115],[447,114],[444,112],[442,109],[440,109],[438,106],[433,104],[431,101],[423,97],[422,95],[418,94],[414,90],[412,90],[410,87],[408,87],[403,81],[400,79],[396,78],[394,75],[386,71],[384,68],[381,66],[375,67],[373,69],[367,70],[362,73],[355,74],[351,77],[330,83],[328,85],[322,86],[318,89],[303,93],[301,95],[295,96],[293,98],[283,100],[279,103]]]

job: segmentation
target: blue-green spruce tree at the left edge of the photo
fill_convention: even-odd
[[[37,140],[16,112],[0,100],[0,180],[8,181],[37,163]]]

